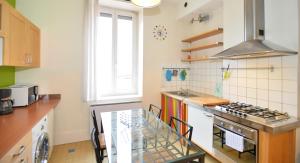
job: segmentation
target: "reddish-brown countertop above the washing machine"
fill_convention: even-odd
[[[0,116],[0,158],[2,158],[22,137],[54,109],[60,95],[42,95],[35,103],[16,107],[14,112]]]

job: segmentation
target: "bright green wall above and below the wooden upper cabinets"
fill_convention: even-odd
[[[16,0],[7,0],[13,7],[16,6]],[[0,87],[6,87],[15,83],[15,68],[0,66]]]

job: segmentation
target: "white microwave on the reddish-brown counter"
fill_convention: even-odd
[[[30,84],[17,84],[9,87],[11,98],[14,100],[13,107],[27,106],[38,100],[38,86]]]

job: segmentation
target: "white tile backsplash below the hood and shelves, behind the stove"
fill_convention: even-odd
[[[192,62],[188,65],[191,69],[187,81],[163,81],[162,87],[184,87],[214,95],[216,83],[221,83],[223,98],[297,116],[297,60],[297,56],[284,56]],[[221,68],[227,68],[228,64],[232,68],[229,69],[231,76],[223,80]],[[271,66],[274,67],[273,71],[268,69]]]

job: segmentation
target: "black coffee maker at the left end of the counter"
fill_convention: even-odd
[[[0,89],[0,115],[13,112],[13,100],[11,99],[11,89]]]

